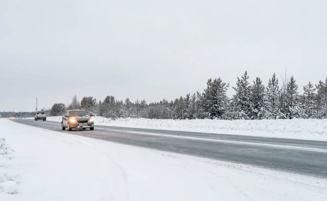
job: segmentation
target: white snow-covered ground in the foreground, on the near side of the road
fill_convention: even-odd
[[[0,127],[4,147],[10,146],[0,155],[0,172],[11,177],[0,183],[18,184],[18,193],[0,192],[0,200],[327,200],[324,179],[116,144],[7,119],[0,119]]]

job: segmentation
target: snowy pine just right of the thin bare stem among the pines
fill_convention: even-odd
[[[292,76],[286,90],[286,118],[306,118],[305,110],[299,103],[298,86]]]

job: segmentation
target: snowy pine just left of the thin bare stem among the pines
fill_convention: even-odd
[[[265,103],[266,103],[267,111],[265,114],[265,118],[267,119],[281,118],[281,113],[278,108],[278,104],[279,104],[278,100],[280,94],[281,94],[281,90],[279,90],[278,78],[276,78],[276,74],[274,73],[272,75],[272,78],[269,79],[269,83],[266,88]]]

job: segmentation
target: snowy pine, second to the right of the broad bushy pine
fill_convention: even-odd
[[[266,111],[265,86],[260,78],[256,78],[251,86],[250,119],[263,119]]]

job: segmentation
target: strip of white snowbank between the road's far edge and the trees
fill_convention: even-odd
[[[162,120],[120,118],[112,120],[104,117],[94,118],[96,124],[111,125],[115,127],[327,141],[327,119],[229,121],[212,119]],[[48,120],[61,122],[61,117],[48,117]]]

